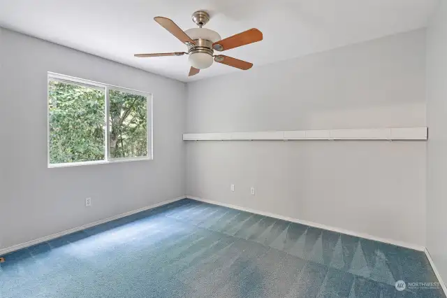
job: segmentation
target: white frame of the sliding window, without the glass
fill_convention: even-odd
[[[50,102],[48,101],[48,86],[51,80],[59,80],[66,83],[78,83],[81,85],[87,85],[91,87],[100,87],[105,91],[105,152],[103,160],[95,160],[91,162],[66,162],[61,164],[50,164]],[[121,157],[121,158],[110,158],[110,123],[109,123],[109,90],[117,90],[120,92],[127,92],[135,95],[140,95],[146,97],[147,100],[147,156],[142,157]],[[140,160],[152,160],[154,159],[153,152],[153,119],[152,119],[152,108],[153,108],[153,96],[149,92],[133,90],[129,88],[119,87],[115,85],[98,83],[92,80],[85,80],[82,78],[75,78],[73,76],[65,76],[60,73],[47,73],[47,166],[48,168],[61,168],[66,166],[85,166],[90,164],[112,164],[116,162],[135,162]]]

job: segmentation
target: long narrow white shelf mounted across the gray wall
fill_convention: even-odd
[[[184,141],[427,141],[427,127],[183,134]]]

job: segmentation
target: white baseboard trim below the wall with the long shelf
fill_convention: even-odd
[[[251,208],[244,208],[244,207],[240,207],[240,206],[235,206],[235,205],[232,205],[232,204],[225,204],[225,203],[221,203],[219,201],[211,201],[211,200],[202,199],[200,197],[194,197],[194,196],[190,196],[190,195],[186,195],[186,198],[194,199],[196,201],[203,201],[203,202],[209,203],[209,204],[214,204],[214,205],[224,206],[224,207],[228,207],[228,208],[233,208],[233,209],[237,209],[237,210],[240,210],[240,211],[247,211],[247,212],[250,212],[250,213],[256,213],[256,214],[259,214],[259,215],[268,216],[270,218],[278,218],[280,220],[287,220],[289,222],[297,222],[297,223],[299,223],[301,225],[308,225],[310,227],[317,227],[319,229],[327,229],[327,230],[332,231],[332,232],[348,234],[348,235],[351,235],[351,236],[356,236],[356,237],[365,238],[365,239],[369,239],[369,240],[374,240],[374,241],[379,241],[379,242],[383,242],[383,243],[388,243],[388,244],[392,244],[394,246],[401,246],[401,247],[404,247],[404,248],[410,248],[410,249],[419,250],[419,251],[424,251],[425,250],[424,246],[418,246],[416,244],[405,243],[405,242],[397,241],[397,240],[393,240],[393,239],[385,239],[385,238],[381,238],[381,237],[377,237],[377,236],[372,236],[372,235],[369,235],[369,234],[353,232],[353,231],[349,231],[347,229],[342,229],[342,228],[339,228],[339,227],[330,227],[328,225],[321,225],[321,224],[318,224],[316,222],[308,222],[306,220],[298,220],[296,218],[288,218],[287,216],[277,215],[277,214],[270,213],[270,212],[258,211],[258,210],[254,210],[254,209],[251,209]]]

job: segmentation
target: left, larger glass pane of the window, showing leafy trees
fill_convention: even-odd
[[[48,83],[50,164],[105,159],[105,90]]]

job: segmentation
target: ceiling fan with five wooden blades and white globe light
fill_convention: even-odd
[[[253,64],[235,59],[225,55],[214,55],[214,50],[222,52],[224,50],[230,50],[242,45],[248,45],[249,43],[256,43],[263,40],[263,34],[258,29],[249,29],[230,36],[228,38],[221,39],[221,36],[213,30],[203,28],[205,24],[210,20],[210,15],[202,10],[198,10],[192,15],[193,22],[198,25],[198,28],[188,29],[183,31],[180,29],[173,20],[167,17],[154,17],[155,22],[159,23],[161,27],[168,30],[170,34],[177,37],[179,41],[182,41],[187,47],[188,52],[166,52],[156,54],[135,54],[135,57],[163,57],[163,56],[182,56],[189,55],[189,63],[191,69],[189,70],[189,76],[195,76],[199,73],[200,69],[207,69],[212,65],[212,62],[218,62],[233,66],[237,69],[246,71],[251,69]]]

